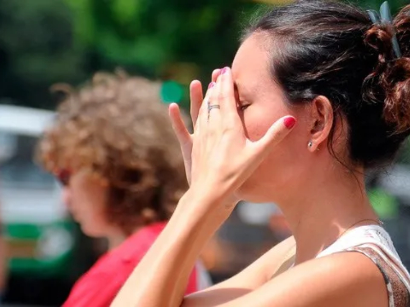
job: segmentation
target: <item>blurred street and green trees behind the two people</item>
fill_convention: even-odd
[[[358,3],[378,9],[381,2]],[[394,11],[408,4],[389,2]],[[163,102],[187,107],[189,82],[209,82],[213,69],[230,65],[240,30],[263,5],[251,0],[0,0],[4,305],[60,305],[76,278],[105,249],[104,242],[81,235],[60,200],[58,183],[33,160],[36,141],[54,116],[50,86],[81,84],[96,71],[121,67],[162,80]],[[368,176],[372,203],[407,267],[409,163],[406,144],[392,169]],[[203,259],[217,282],[289,235],[274,204],[241,203]]]

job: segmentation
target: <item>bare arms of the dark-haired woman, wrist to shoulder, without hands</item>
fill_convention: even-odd
[[[207,200],[203,199],[202,202]],[[335,254],[306,261],[269,280],[269,276],[274,273],[274,270],[267,270],[269,261],[274,261],[279,255],[283,256],[283,252],[280,253],[275,249],[237,276],[184,299],[183,292],[189,273],[194,267],[202,246],[229,215],[228,212],[227,215],[221,214],[220,210],[199,214],[197,210],[193,212],[190,208],[193,208],[190,202],[187,203],[182,199],[178,208],[180,210],[175,212],[167,226],[168,229],[158,237],[112,306],[384,307],[387,305],[383,277],[367,257],[358,253]],[[185,227],[178,227],[178,224],[183,221],[186,223]],[[285,244],[289,244],[289,241]]]

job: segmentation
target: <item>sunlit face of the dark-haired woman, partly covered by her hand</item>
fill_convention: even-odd
[[[272,80],[267,38],[253,34],[242,43],[232,73],[237,87],[239,114],[250,140],[260,139],[279,118],[293,115],[297,124],[238,191],[241,199],[253,202],[279,202],[292,187],[306,179],[310,156],[308,108],[290,107],[283,91]]]

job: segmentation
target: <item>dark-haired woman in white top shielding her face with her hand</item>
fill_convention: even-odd
[[[409,306],[410,276],[364,184],[410,134],[410,6],[394,20],[387,9],[273,9],[203,103],[191,84],[193,135],[170,107],[190,188],[113,306]],[[293,237],[184,298],[196,257],[239,200],[278,204]]]

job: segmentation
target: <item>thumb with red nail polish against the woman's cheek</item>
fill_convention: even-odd
[[[278,119],[265,133],[265,135],[256,142],[259,155],[265,155],[273,147],[278,145],[290,132],[296,124],[296,119],[293,116],[285,116]]]

